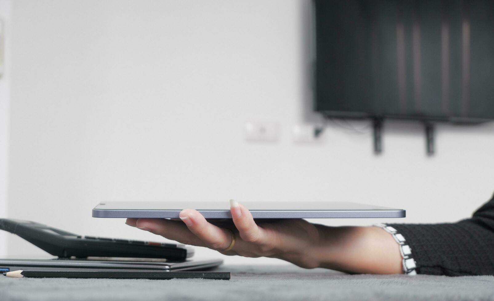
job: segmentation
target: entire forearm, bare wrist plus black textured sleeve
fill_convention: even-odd
[[[391,224],[406,239],[413,272],[494,275],[494,197],[470,219],[446,224]],[[320,267],[357,273],[402,273],[400,247],[379,227],[316,226]],[[410,253],[411,252],[411,253]]]

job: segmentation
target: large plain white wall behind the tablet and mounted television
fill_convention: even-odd
[[[292,142],[294,124],[318,120],[309,106],[308,15],[300,0],[14,1],[9,216],[151,238],[123,220],[92,218],[91,208],[102,200],[359,201],[406,208],[402,221],[439,222],[486,201],[493,124],[440,125],[433,158],[415,123],[387,123],[380,157],[368,130],[330,125],[324,143]],[[246,142],[249,119],[279,122],[281,139]],[[8,252],[41,253],[15,236]]]

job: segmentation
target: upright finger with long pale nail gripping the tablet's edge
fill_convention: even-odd
[[[235,200],[230,200],[230,211],[232,213],[233,223],[243,240],[255,244],[266,243],[267,239],[264,229],[255,224],[252,214],[244,205],[239,204]]]

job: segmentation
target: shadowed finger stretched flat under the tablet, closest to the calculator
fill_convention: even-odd
[[[161,218],[139,218],[135,222],[135,227],[183,244],[200,247],[206,246],[199,237],[192,234],[187,229],[187,226],[180,221],[171,221]]]

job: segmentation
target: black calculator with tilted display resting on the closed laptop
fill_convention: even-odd
[[[183,261],[194,249],[183,244],[82,236],[30,221],[0,219],[0,230],[17,234],[60,258],[134,257]]]

